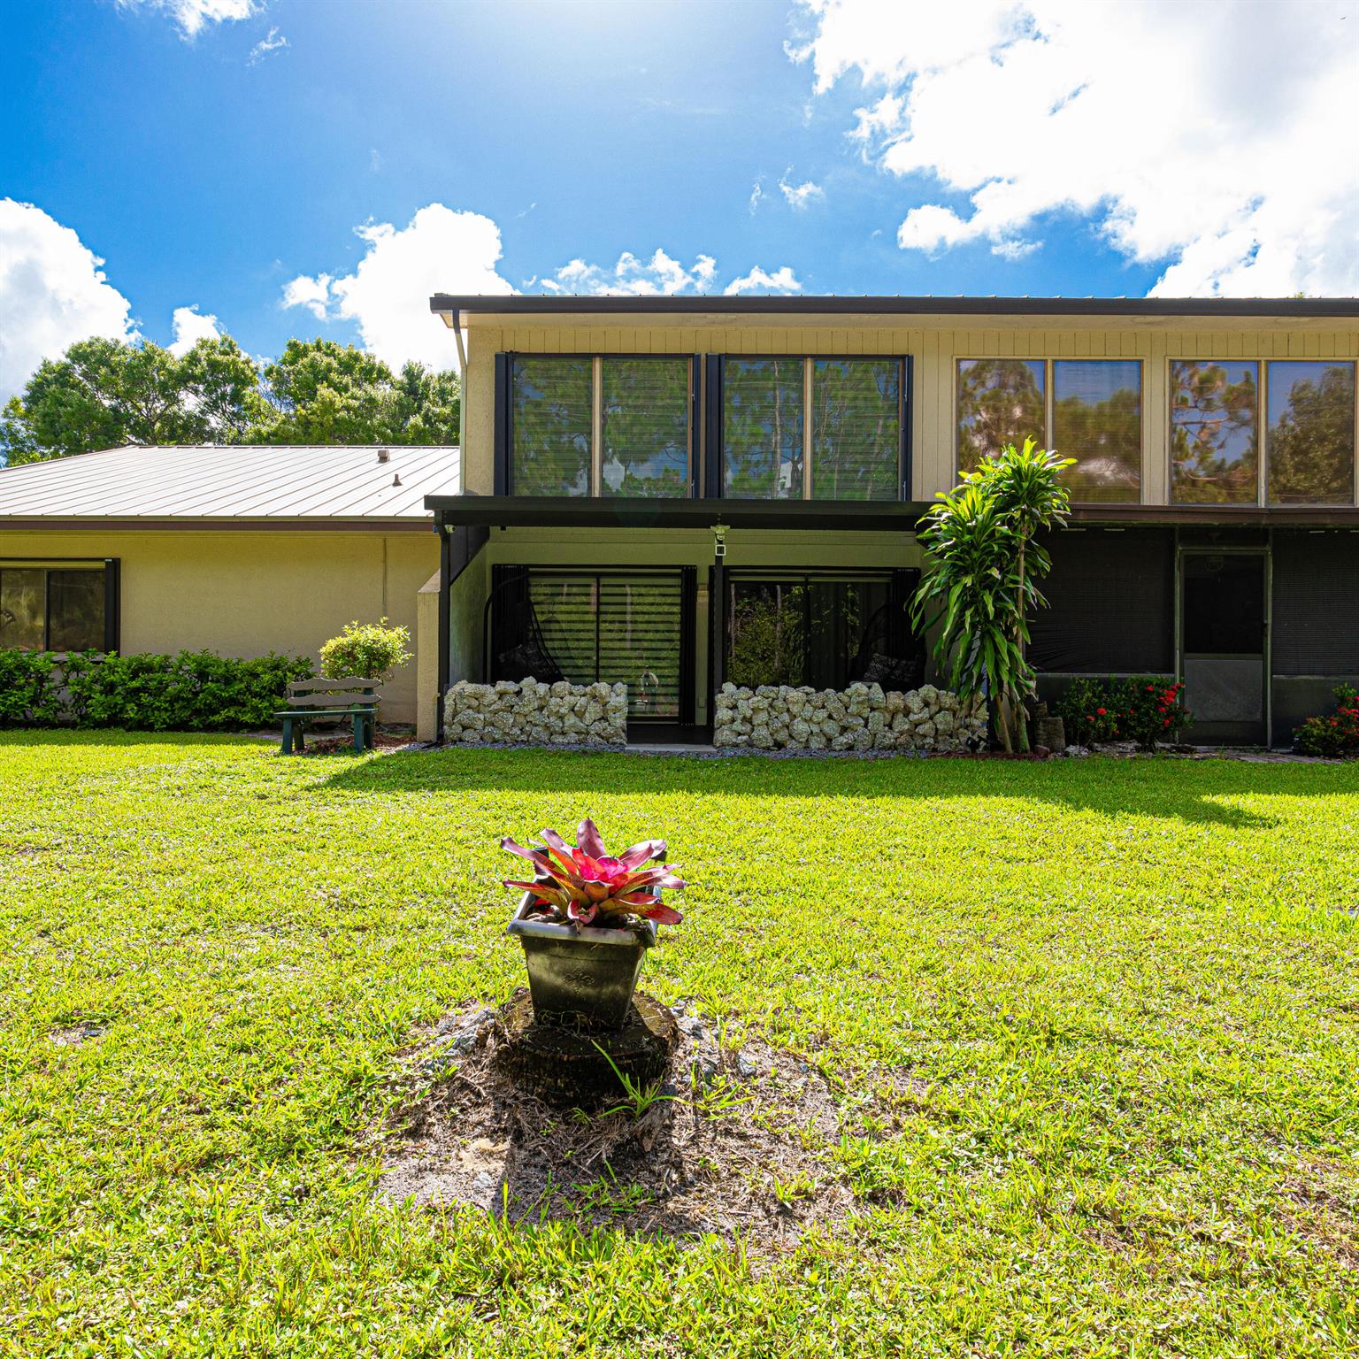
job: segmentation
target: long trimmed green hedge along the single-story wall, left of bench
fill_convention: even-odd
[[[0,727],[242,731],[272,726],[304,656],[120,656],[0,650]]]

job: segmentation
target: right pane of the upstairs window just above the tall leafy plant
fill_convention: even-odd
[[[1052,446],[1076,465],[1061,474],[1075,501],[1142,495],[1142,364],[1110,359],[1052,366]]]

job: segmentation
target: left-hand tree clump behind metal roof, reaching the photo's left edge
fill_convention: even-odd
[[[92,338],[45,359],[0,421],[7,461],[39,462],[125,443],[236,443],[264,413],[254,363],[234,340],[188,353]]]

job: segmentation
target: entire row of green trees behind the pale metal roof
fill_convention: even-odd
[[[457,443],[455,372],[393,372],[333,340],[289,340],[264,366],[228,336],[178,356],[149,342],[82,340],[39,364],[4,409],[10,463],[125,443]]]

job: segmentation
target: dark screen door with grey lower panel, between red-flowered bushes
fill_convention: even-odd
[[[1185,552],[1181,675],[1197,745],[1265,743],[1265,553]]]

